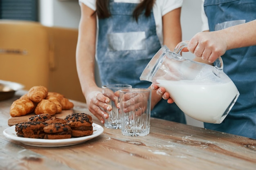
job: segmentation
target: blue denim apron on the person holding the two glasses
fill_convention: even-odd
[[[97,64],[102,84],[130,84],[134,88],[148,88],[151,84],[140,81],[139,76],[161,44],[153,11],[150,17],[142,13],[136,22],[132,18],[136,6],[110,0],[111,17],[99,19]],[[186,123],[176,104],[163,99],[151,110],[151,117]]]

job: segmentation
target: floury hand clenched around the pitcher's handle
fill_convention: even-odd
[[[227,51],[226,36],[219,31],[200,32],[193,36],[189,41],[187,49],[196,57],[202,57],[202,60],[213,63]]]

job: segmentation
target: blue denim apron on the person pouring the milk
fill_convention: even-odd
[[[210,31],[256,19],[255,0],[205,0],[204,10]],[[240,96],[221,124],[204,127],[256,139],[256,46],[228,50],[222,60]]]

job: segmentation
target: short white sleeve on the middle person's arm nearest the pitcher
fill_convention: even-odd
[[[183,0],[159,0],[162,5],[162,16],[174,9],[182,7]]]

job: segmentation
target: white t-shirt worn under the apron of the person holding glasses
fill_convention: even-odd
[[[141,2],[141,0],[114,0],[114,2],[137,4]],[[163,45],[162,16],[174,9],[182,7],[182,2],[183,0],[155,0],[155,4],[153,6],[153,13],[156,24],[156,32],[161,45]],[[96,10],[96,0],[79,0],[79,4],[81,3],[85,4],[94,11]]]

